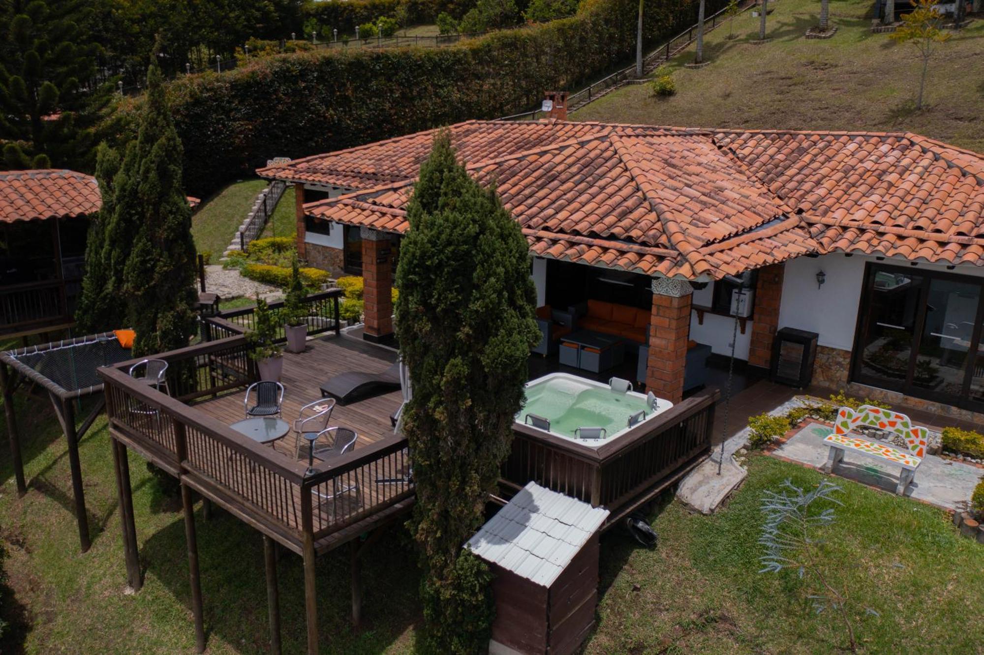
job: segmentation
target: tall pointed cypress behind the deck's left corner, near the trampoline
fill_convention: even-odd
[[[135,355],[184,347],[195,333],[195,243],[182,156],[154,61],[137,143],[127,149],[115,188],[113,234],[107,234],[113,241],[106,244],[112,270],[124,259],[119,251],[129,251],[121,288],[137,332]]]

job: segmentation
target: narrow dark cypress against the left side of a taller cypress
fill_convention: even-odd
[[[115,183],[120,170],[120,155],[106,144],[99,144],[95,155],[95,179],[99,183],[102,208],[89,223],[86,241],[86,274],[75,321],[86,332],[102,332],[123,326],[124,312],[120,298],[109,292],[113,287],[103,252],[106,249],[106,225],[115,208]]]

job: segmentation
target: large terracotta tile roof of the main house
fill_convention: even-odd
[[[984,156],[918,135],[551,121],[450,130],[538,256],[687,279],[827,252],[984,265]],[[260,172],[355,189],[306,210],[401,233],[434,133]]]

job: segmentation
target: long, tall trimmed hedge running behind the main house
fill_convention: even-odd
[[[344,6],[350,3],[321,3]],[[712,13],[725,0],[709,0]],[[649,44],[696,21],[695,0],[646,0]],[[274,156],[300,157],[535,106],[635,56],[636,0],[443,48],[331,49],[258,59],[168,87],[186,190],[206,196]],[[125,113],[139,100],[127,101]],[[124,116],[125,118],[125,116]],[[134,128],[129,128],[131,133]]]

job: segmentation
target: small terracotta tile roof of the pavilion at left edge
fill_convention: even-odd
[[[71,170],[0,172],[0,221],[85,216],[102,206],[95,178]]]

